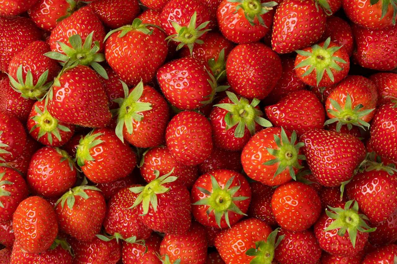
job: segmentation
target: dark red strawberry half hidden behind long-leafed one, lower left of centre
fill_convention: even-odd
[[[129,186],[129,187],[135,187]],[[137,207],[130,208],[138,195],[128,188],[119,190],[109,201],[104,228],[106,233],[113,235],[120,233],[124,238],[136,236],[137,239],[146,239],[152,230],[147,228],[138,218]]]

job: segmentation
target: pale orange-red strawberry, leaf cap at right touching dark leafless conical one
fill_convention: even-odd
[[[304,160],[299,150],[303,143],[296,143],[295,131],[291,134],[283,128],[265,128],[256,133],[241,153],[241,164],[247,175],[269,186],[276,186],[295,179]]]

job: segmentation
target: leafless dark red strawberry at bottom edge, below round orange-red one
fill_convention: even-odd
[[[276,247],[274,259],[283,264],[312,264],[321,258],[321,248],[313,231],[293,232],[281,229],[279,235],[284,235]]]

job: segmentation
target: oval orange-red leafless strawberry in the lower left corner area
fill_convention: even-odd
[[[29,253],[48,249],[58,234],[58,220],[52,205],[31,196],[19,203],[12,220],[15,239]]]

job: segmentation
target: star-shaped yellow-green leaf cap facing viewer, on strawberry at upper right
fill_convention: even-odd
[[[306,67],[310,65],[308,70],[302,75],[302,77],[305,77],[312,73],[314,70],[316,70],[316,82],[317,86],[320,84],[320,81],[324,77],[324,73],[327,73],[328,77],[330,77],[330,80],[334,82],[334,76],[331,71],[331,69],[334,69],[335,71],[341,71],[342,67],[337,65],[336,62],[340,63],[345,63],[347,62],[337,56],[333,56],[335,52],[340,50],[342,46],[334,46],[331,48],[328,48],[331,43],[331,38],[327,38],[327,40],[324,42],[323,46],[321,47],[318,44],[315,44],[312,46],[312,52],[308,52],[305,50],[296,50],[295,52],[303,57],[308,57],[307,59],[303,60],[301,63],[299,63],[295,69]]]

